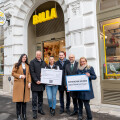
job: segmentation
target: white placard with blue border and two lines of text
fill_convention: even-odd
[[[68,91],[89,91],[90,83],[86,75],[70,75],[66,76]]]

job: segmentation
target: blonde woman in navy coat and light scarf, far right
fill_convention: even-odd
[[[89,77],[90,91],[79,91],[78,102],[79,102],[79,116],[78,120],[82,120],[83,114],[83,103],[86,109],[87,120],[92,120],[92,113],[90,109],[90,100],[94,98],[94,92],[92,88],[92,80],[96,79],[96,74],[93,67],[87,65],[87,59],[85,57],[80,58],[77,74],[86,74]]]

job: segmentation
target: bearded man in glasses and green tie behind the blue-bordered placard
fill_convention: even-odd
[[[77,74],[78,62],[75,61],[75,56],[73,54],[69,55],[70,63],[66,65],[65,74],[66,75],[75,75]],[[73,99],[74,111],[70,116],[76,115],[78,113],[78,103],[77,103],[77,91],[70,92],[70,96]]]

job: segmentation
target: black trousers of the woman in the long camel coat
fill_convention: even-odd
[[[24,102],[16,102],[16,114],[21,114],[21,108],[22,108],[22,114],[26,114],[26,103]]]

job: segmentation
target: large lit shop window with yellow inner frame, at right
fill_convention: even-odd
[[[120,79],[120,18],[103,21],[100,26],[103,79]]]

